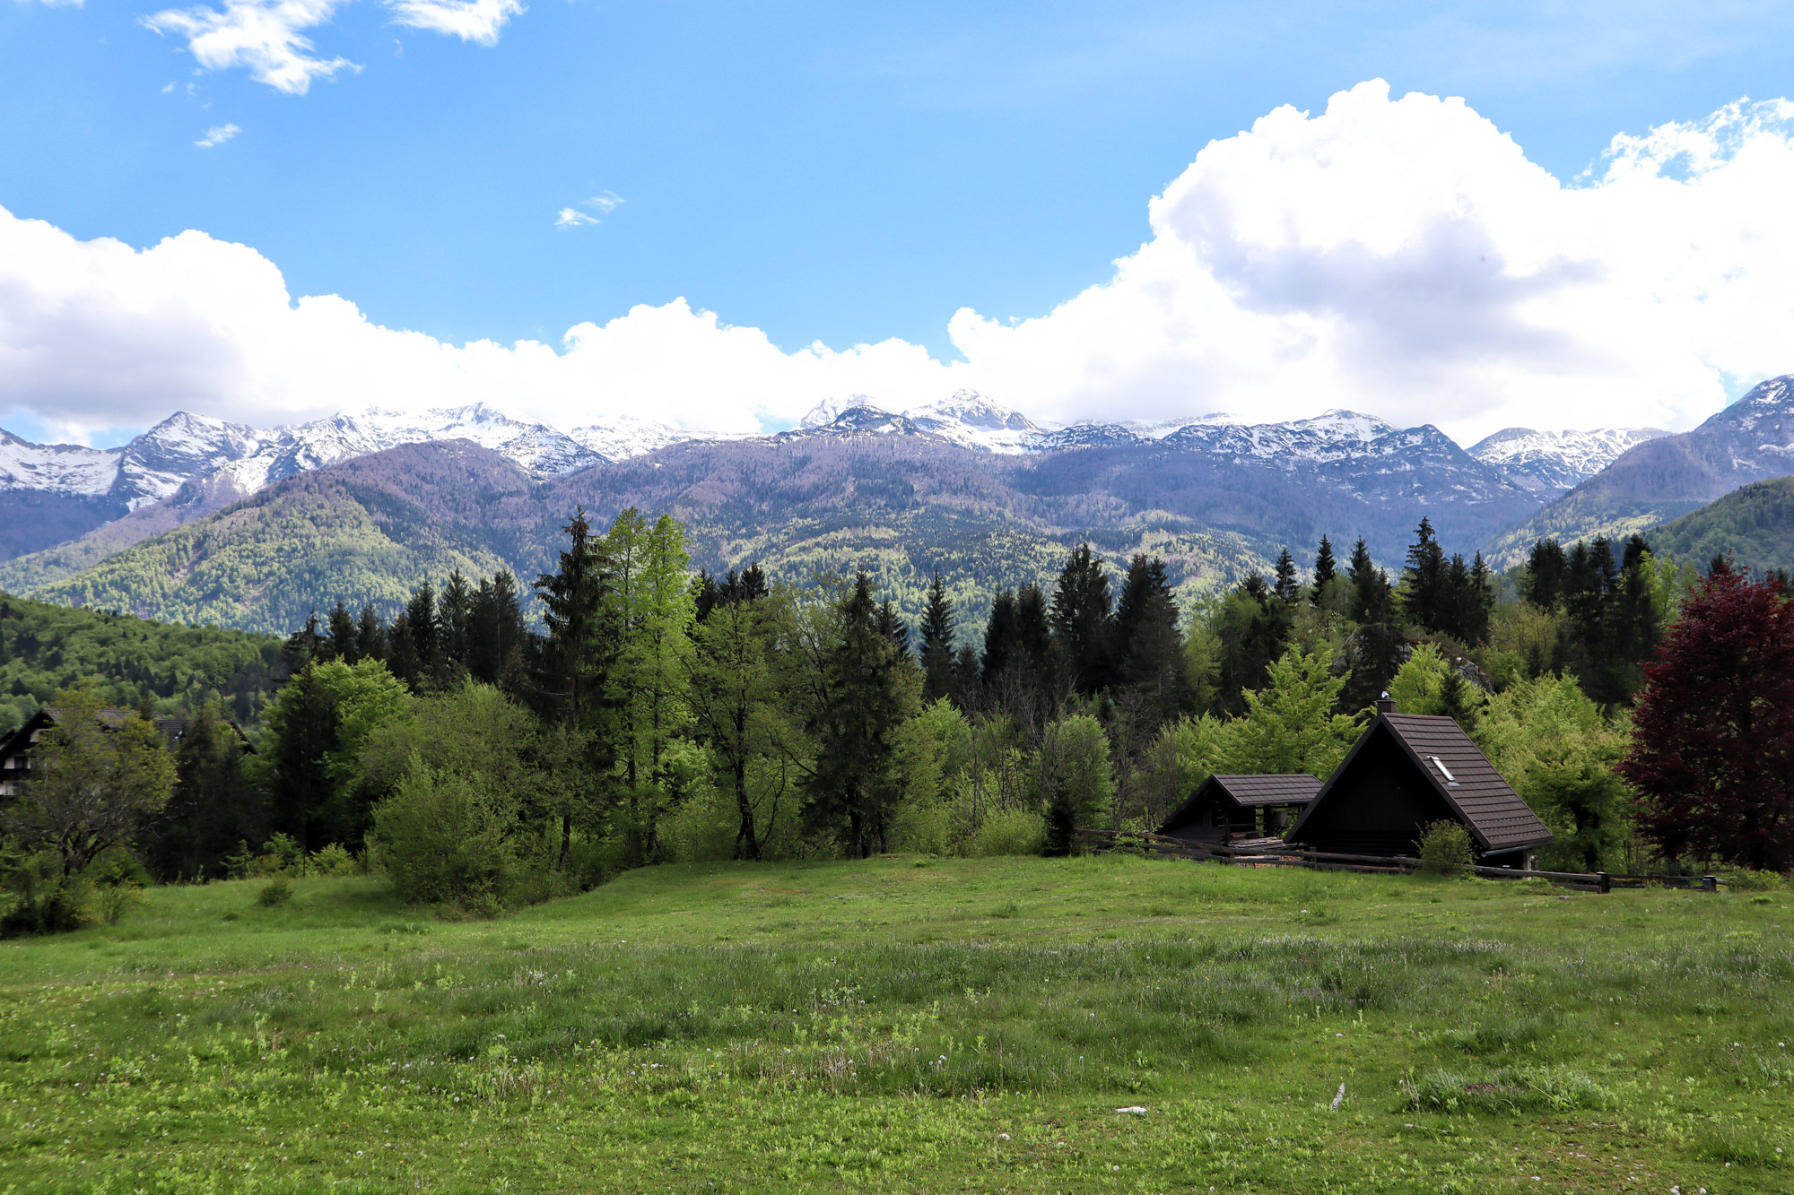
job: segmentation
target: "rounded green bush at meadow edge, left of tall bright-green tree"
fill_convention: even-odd
[[[484,777],[438,772],[422,757],[373,811],[386,874],[405,901],[474,910],[509,899],[517,854],[508,829],[517,809]]]

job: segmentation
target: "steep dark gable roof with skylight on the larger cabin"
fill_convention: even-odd
[[[1349,775],[1353,761],[1363,745],[1371,741],[1371,736],[1383,728],[1401,745],[1414,766],[1419,768],[1421,775],[1444,798],[1446,806],[1464,820],[1476,845],[1485,854],[1543,847],[1552,840],[1552,831],[1520,798],[1520,793],[1502,779],[1502,773],[1494,770],[1494,764],[1482,754],[1482,748],[1471,743],[1469,736],[1464,734],[1464,727],[1439,714],[1378,714],[1376,721],[1358,736],[1351,752],[1346,754],[1340,766],[1328,777],[1328,782],[1320,788],[1320,795],[1315,797],[1295,825],[1290,827],[1288,836],[1292,840],[1301,834],[1302,824],[1308,822],[1313,811],[1326,802],[1333,786]]]

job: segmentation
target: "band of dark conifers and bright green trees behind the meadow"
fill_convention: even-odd
[[[1066,854],[1078,827],[1155,829],[1215,772],[1326,777],[1385,691],[1464,725],[1552,827],[1548,865],[1785,856],[1672,827],[1627,779],[1654,775],[1633,707],[1686,594],[1740,576],[1713,562],[1703,581],[1638,536],[1541,540],[1498,574],[1423,519],[1396,574],[1322,538],[1306,576],[1285,551],[1186,610],[1163,562],[1080,547],[1051,592],[997,592],[974,628],[938,580],[911,626],[863,572],[692,574],[671,517],[563,531],[527,583],[454,572],[391,617],[334,603],[285,642],[135,619],[61,642],[61,705],[165,714],[185,694],[194,718],[172,748],[144,741],[165,782],[79,865],[66,827],[14,800],[14,872],[50,892],[100,863],[384,868],[407,899],[502,908],[657,861]],[[1781,608],[1781,583],[1749,585]],[[131,642],[187,655],[158,673]],[[9,669],[45,659],[23,628],[4,644]]]

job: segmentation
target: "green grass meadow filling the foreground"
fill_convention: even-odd
[[[255,897],[0,944],[0,1191],[1794,1191],[1790,892],[890,858],[501,920]]]

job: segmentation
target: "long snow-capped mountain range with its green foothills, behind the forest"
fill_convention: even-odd
[[[271,431],[181,413],[120,449],[0,445],[0,587],[282,630],[450,567],[533,576],[574,506],[639,506],[684,519],[701,567],[863,565],[906,608],[938,567],[976,619],[992,587],[1048,578],[1078,542],[1163,554],[1186,589],[1283,545],[1306,558],[1322,533],[1394,563],[1421,513],[1467,553],[1654,436],[1505,431],[1466,450],[1351,411],[1058,427],[969,391],[906,411],[854,397],[762,436],[628,416],[560,432],[484,404]],[[47,502],[59,524],[22,517]]]

